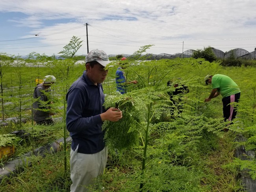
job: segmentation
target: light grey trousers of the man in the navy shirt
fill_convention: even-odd
[[[103,174],[107,159],[108,147],[95,154],[70,151],[71,192],[90,192],[95,190],[95,178]]]

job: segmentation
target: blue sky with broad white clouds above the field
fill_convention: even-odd
[[[211,46],[256,48],[255,0],[1,0],[0,54],[59,55],[73,36],[76,55],[176,54]],[[86,31],[86,23],[87,31]]]

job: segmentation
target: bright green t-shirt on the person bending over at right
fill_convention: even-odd
[[[212,77],[211,85],[212,89],[218,89],[223,98],[240,92],[239,87],[230,77],[221,74]]]

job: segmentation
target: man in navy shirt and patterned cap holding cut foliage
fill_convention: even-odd
[[[67,92],[67,130],[72,137],[70,151],[71,192],[93,191],[95,178],[103,174],[108,149],[101,129],[105,120],[116,122],[122,111],[103,107],[102,82],[106,79],[110,63],[102,50],[92,50],[85,58],[86,70]]]

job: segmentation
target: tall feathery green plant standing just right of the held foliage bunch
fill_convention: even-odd
[[[143,145],[143,151],[141,155],[142,174],[145,171],[147,164],[150,162],[148,161],[147,157],[147,148],[148,142],[150,141],[150,139],[152,139],[149,135],[152,128],[152,118],[160,118],[161,114],[166,112],[165,109],[169,107],[170,103],[170,99],[167,96],[166,86],[161,86],[163,85],[162,81],[169,72],[174,70],[174,68],[182,66],[172,65],[169,69],[166,70],[166,68],[163,68],[161,66],[165,65],[166,63],[159,62],[158,65],[156,65],[156,61],[138,62],[136,59],[141,59],[141,54],[145,52],[149,47],[150,46],[144,46],[138,52],[135,52],[132,57],[134,59],[130,61],[132,63],[127,64],[127,70],[130,70],[137,75],[137,80],[142,86],[142,89],[134,89],[131,92],[124,94],[121,99],[119,98],[119,100],[121,100],[119,102],[121,103],[125,100],[128,100],[128,98],[132,98],[132,100],[134,101],[134,106],[137,107],[137,111],[140,112],[139,114],[137,114],[140,119],[133,119],[136,122],[137,126],[131,126],[130,124],[129,131],[137,131]],[[166,84],[164,83],[164,85]],[[113,102],[115,101],[115,99],[111,99],[111,101]],[[122,122],[122,120],[120,120],[120,122]],[[117,124],[113,124],[113,126],[117,126]],[[113,128],[109,129],[111,130]],[[140,188],[143,188],[143,183],[141,183]]]

